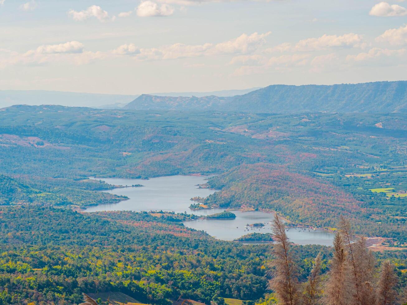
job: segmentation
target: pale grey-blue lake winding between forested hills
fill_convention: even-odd
[[[189,205],[192,203],[190,198],[195,196],[206,197],[216,192],[216,190],[199,189],[196,185],[206,183],[206,177],[202,176],[164,176],[142,179],[122,179],[122,178],[103,178],[101,180],[113,185],[136,185],[142,184],[143,187],[125,187],[115,188],[107,192],[117,195],[125,195],[129,200],[121,201],[116,204],[105,204],[88,207],[86,212],[94,211],[151,211],[163,210],[174,211],[175,213],[208,215],[219,213],[224,209],[204,209],[191,210]],[[234,220],[194,220],[184,222],[184,225],[196,230],[206,231],[209,235],[221,240],[234,240],[248,233],[271,233],[269,222],[274,214],[261,211],[233,211],[236,214]],[[255,222],[265,222],[264,228],[245,229],[247,224]],[[248,231],[247,231],[248,230]],[[325,246],[332,245],[333,234],[322,230],[311,230],[291,228],[287,231],[290,240],[295,244],[320,244]]]

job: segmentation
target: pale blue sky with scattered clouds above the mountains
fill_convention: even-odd
[[[407,80],[407,1],[0,0],[0,90]]]

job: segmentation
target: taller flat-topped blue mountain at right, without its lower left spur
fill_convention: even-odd
[[[407,112],[407,81],[341,85],[272,85],[233,99],[236,110]]]

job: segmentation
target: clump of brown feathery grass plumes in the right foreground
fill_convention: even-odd
[[[341,218],[340,230],[335,234],[334,252],[327,280],[321,285],[322,262],[319,253],[302,291],[295,263],[289,251],[289,239],[285,233],[284,223],[278,215],[274,218],[273,233],[276,240],[273,252],[276,258],[272,264],[273,278],[269,282],[269,287],[276,292],[279,304],[394,304],[397,297],[395,288],[398,283],[394,265],[389,261],[383,262],[375,289],[375,260],[372,252],[367,247],[365,237],[355,238],[350,223],[345,218]],[[407,288],[405,290],[407,292]],[[302,295],[301,302],[299,295]],[[406,301],[407,299],[404,300],[403,297],[399,298],[401,304]]]

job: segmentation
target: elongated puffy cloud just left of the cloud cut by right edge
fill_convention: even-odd
[[[361,35],[349,33],[341,36],[337,35],[322,35],[319,38],[308,38],[300,40],[295,45],[295,50],[298,51],[315,51],[325,50],[328,48],[343,48],[343,47],[363,47],[363,39]]]

